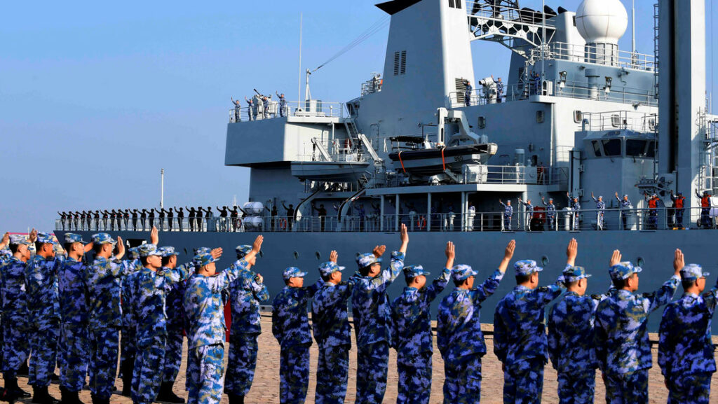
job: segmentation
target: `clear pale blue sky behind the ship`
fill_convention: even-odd
[[[630,1],[623,0],[630,7]],[[0,230],[52,230],[57,210],[245,202],[248,169],[225,167],[230,96],[297,98],[320,65],[385,14],[375,1],[97,1],[4,5],[0,16]],[[548,1],[576,9],[579,0]],[[653,52],[653,1],[638,0],[638,51]],[[710,16],[718,1],[707,0]],[[541,1],[524,0],[538,8]],[[710,7],[712,6],[712,12]],[[418,27],[417,29],[420,29]],[[312,76],[345,101],[381,72],[388,27]],[[629,27],[630,33],[630,27]],[[630,50],[630,34],[621,42]],[[474,42],[477,77],[505,75],[509,51]],[[718,55],[714,50],[714,58]],[[711,57],[707,55],[708,63]],[[716,77],[716,69],[712,77]],[[709,88],[714,88],[710,84]],[[718,95],[718,94],[717,94]],[[715,108],[714,108],[715,109]]]

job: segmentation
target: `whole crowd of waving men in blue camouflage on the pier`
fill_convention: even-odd
[[[286,268],[286,287],[275,296],[272,317],[272,332],[281,347],[282,403],[304,403],[307,395],[309,309],[319,346],[315,402],[344,402],[352,328],[349,299],[358,345],[356,403],[382,402],[391,347],[397,351],[397,402],[428,403],[429,306],[449,280],[455,288],[442,299],[437,314],[444,403],[480,401],[481,362],[486,354],[481,304],[498,288],[516,243],[507,245],[498,268],[475,286],[479,273],[468,265],[454,266],[456,251],[449,242],[446,264],[428,284],[429,272],[421,265],[404,264],[409,245],[405,225],[400,237],[401,246],[391,253],[386,269],[381,268],[386,247],[378,245],[371,253],[357,255],[358,271],[345,282],[345,268],[337,264],[335,251],[320,265],[320,278],[312,286],[304,287],[306,272]],[[55,254],[47,233],[33,232],[29,240],[5,235],[0,245],[0,250],[9,245],[0,268],[4,400],[22,397],[17,372],[30,355],[34,403],[55,403],[47,386],[57,362],[63,403],[80,403],[78,392],[89,375],[93,404],[107,404],[121,333],[123,394],[131,395],[134,403],[182,403],[172,393],[172,385],[179,372],[185,329],[188,403],[219,403],[223,392],[231,404],[243,403],[256,366],[259,304],[269,299],[263,278],[251,271],[263,240],[260,235],[253,245],[238,246],[238,260],[217,271],[220,248],[197,248],[192,262],[178,265],[174,248],[157,247],[157,229],[151,232],[151,243],[130,249],[128,258],[121,238],[115,241],[106,233],[93,235],[86,244],[80,235],[67,233],[66,256]],[[31,243],[37,250],[32,258]],[[95,258],[83,260],[90,250]],[[607,403],[647,403],[652,365],[647,319],[671,301],[680,281],[684,296],[663,313],[658,363],[670,403],[708,403],[716,370],[710,324],[718,284],[704,293],[709,274],[696,264],[686,266],[683,253],[676,250],[673,276],[653,293],[635,293],[641,268],[622,262],[615,250],[608,271],[611,288],[587,296],[590,275],[575,265],[577,253],[577,242],[571,240],[566,268],[545,287],[538,286],[542,268],[536,261],[514,264],[516,287],[500,300],[494,316],[494,353],[503,363],[504,402],[540,402],[544,367],[550,360],[559,373],[561,403],[592,403],[596,369],[602,371]],[[402,272],[406,288],[390,302],[386,290]],[[549,314],[546,334],[545,309],[555,299],[559,301]],[[231,301],[232,327],[223,383],[227,301]]]

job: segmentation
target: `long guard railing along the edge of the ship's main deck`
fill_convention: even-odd
[[[651,209],[621,210],[609,208],[603,211],[595,209],[582,209],[579,211],[579,225],[577,231],[598,230],[599,213],[603,213],[603,230],[624,230],[623,215],[626,217],[626,229],[635,231],[673,230],[678,229],[676,209],[660,207]],[[555,213],[554,227],[548,228],[548,218],[545,210],[534,210],[531,215],[531,228],[533,231],[574,231],[571,230],[573,215],[570,210],[558,210]],[[701,221],[702,208],[686,208],[683,214],[683,227],[686,229],[716,229],[718,226],[718,207],[709,209],[709,222]],[[525,220],[522,219],[524,210],[516,210],[511,219],[511,231],[524,231]],[[503,229],[503,211],[490,212],[461,212],[419,213],[401,212],[399,214],[370,213],[364,217],[347,215],[342,217],[341,226],[337,216],[302,216],[294,220],[286,216],[251,216],[251,217],[184,217],[180,222],[178,217],[169,220],[154,220],[138,218],[136,226],[132,218],[124,222],[123,218],[106,221],[99,220],[57,219],[55,230],[58,231],[118,231],[118,232],[149,232],[152,225],[163,232],[382,232],[387,229],[397,231],[398,225],[405,224],[410,231],[426,232],[469,232],[469,231],[501,231]],[[181,223],[181,225],[180,225]],[[508,230],[506,230],[508,231]]]

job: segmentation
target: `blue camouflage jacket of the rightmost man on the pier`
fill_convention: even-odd
[[[718,301],[718,283],[698,296],[686,293],[668,304],[661,319],[658,365],[663,376],[715,372],[711,319]]]

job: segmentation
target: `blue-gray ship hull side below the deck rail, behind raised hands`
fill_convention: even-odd
[[[56,230],[57,238],[62,240],[65,231]],[[85,240],[92,232],[78,232]],[[123,240],[149,240],[149,232],[110,232],[121,236]],[[180,263],[191,259],[192,248],[221,247],[225,251],[218,268],[228,266],[234,260],[236,245],[251,244],[258,233],[255,232],[160,232],[160,245],[173,245],[180,253]],[[284,268],[297,266],[309,272],[307,283],[313,283],[319,276],[317,266],[328,260],[330,250],[337,250],[339,263],[348,271],[355,267],[355,254],[370,252],[375,245],[385,244],[387,250],[398,248],[396,232],[264,232],[263,256],[258,260],[256,271],[264,276],[271,299],[274,299],[284,286],[281,273]],[[610,286],[608,262],[613,250],[620,249],[623,260],[642,263],[639,292],[655,291],[673,274],[673,251],[681,248],[686,255],[686,263],[699,263],[714,273],[707,280],[707,288],[716,283],[716,271],[711,271],[715,255],[714,237],[718,230],[662,230],[662,231],[585,231],[585,232],[410,232],[409,250],[406,263],[421,264],[432,275],[438,276],[444,266],[444,245],[452,241],[457,246],[457,263],[466,263],[480,273],[477,282],[488,277],[503,257],[503,250],[509,240],[517,243],[514,260],[533,259],[544,267],[539,283],[547,285],[556,281],[566,265],[566,246],[571,238],[579,243],[577,265],[587,268],[592,274],[587,293],[604,293]],[[386,258],[388,258],[388,252]],[[386,263],[386,262],[385,262]],[[351,272],[350,272],[351,273]],[[513,268],[509,267],[498,291],[482,305],[484,323],[493,322],[495,305],[516,282]],[[400,275],[388,288],[393,299],[403,290],[406,283]],[[447,291],[453,288],[451,284]],[[434,301],[434,315],[438,302],[447,291]],[[675,299],[683,293],[679,286]],[[268,304],[271,303],[271,300]],[[658,331],[663,308],[651,315],[649,329]],[[718,327],[712,325],[712,334],[718,334]]]

